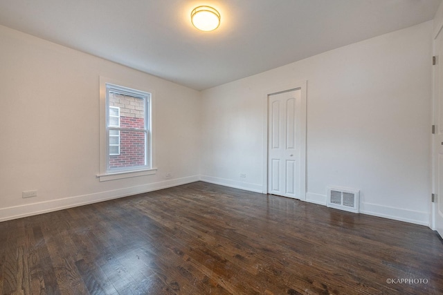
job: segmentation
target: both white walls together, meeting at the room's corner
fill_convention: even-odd
[[[0,221],[199,178],[263,191],[266,89],[307,80],[307,200],[351,187],[364,213],[428,225],[432,32],[428,21],[199,93],[0,26]],[[154,90],[156,175],[96,178],[100,75]]]

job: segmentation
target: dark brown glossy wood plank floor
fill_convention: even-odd
[[[443,242],[195,182],[0,222],[0,294],[443,294]]]

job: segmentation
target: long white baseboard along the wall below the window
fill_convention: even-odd
[[[199,180],[200,180],[199,175],[195,175],[186,178],[178,178],[172,180],[165,180],[162,182],[143,184],[136,187],[127,187],[124,189],[115,189],[112,191],[100,191],[99,193],[90,193],[83,196],[74,196],[70,198],[62,198],[46,202],[35,202],[33,204],[2,208],[0,209],[0,222],[17,219],[17,218],[23,218],[26,216],[48,213],[51,211],[83,206],[86,204],[92,204],[116,198],[123,198],[127,196],[136,195],[137,193],[147,193],[148,191],[167,189],[168,187],[176,187],[177,185],[196,182]]]

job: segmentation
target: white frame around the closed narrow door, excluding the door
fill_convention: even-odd
[[[298,188],[299,200],[306,200],[306,134],[307,134],[307,80],[302,80],[290,84],[284,84],[266,89],[263,94],[264,105],[264,125],[263,125],[263,193],[269,193],[268,175],[269,175],[269,95],[299,90],[300,93],[300,124],[299,138],[300,143],[300,187]]]

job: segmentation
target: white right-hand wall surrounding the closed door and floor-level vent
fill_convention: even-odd
[[[307,200],[360,189],[363,213],[428,225],[432,30],[428,21],[204,91],[202,179],[263,191],[264,94],[307,80]]]

